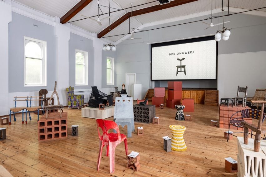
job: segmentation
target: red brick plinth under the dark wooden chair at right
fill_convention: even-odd
[[[250,109],[248,106],[246,107],[241,107],[241,106],[219,106],[219,128],[229,128],[229,120],[230,117],[235,113],[238,112],[242,109]],[[233,116],[234,118],[237,117],[241,117],[241,113],[238,112],[237,114],[235,114]],[[243,118],[244,121],[248,122],[248,123],[252,123],[252,118]],[[242,130],[243,128],[239,128],[239,127],[234,127],[232,125],[230,125],[230,130]]]

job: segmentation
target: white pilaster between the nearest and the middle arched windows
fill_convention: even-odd
[[[70,40],[70,27],[61,24],[58,20],[60,19],[55,17],[55,36],[57,38],[57,93],[60,104],[66,106],[67,95],[65,89],[69,86],[68,41]]]

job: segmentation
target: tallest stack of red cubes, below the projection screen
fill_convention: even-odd
[[[168,99],[166,100],[167,108],[175,108],[175,105],[180,104],[182,99],[182,82],[168,82]]]

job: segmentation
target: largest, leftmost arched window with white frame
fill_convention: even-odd
[[[46,86],[46,41],[24,37],[24,85]]]

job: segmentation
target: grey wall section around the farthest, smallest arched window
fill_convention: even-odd
[[[101,72],[102,72],[102,75],[101,75],[101,88],[114,88],[115,86],[118,86],[119,88],[119,85],[116,85],[116,51],[113,52],[112,50],[109,50],[109,51],[104,51],[102,50],[101,52],[101,56],[102,56],[102,62],[101,62]],[[115,62],[115,70],[114,70],[114,73],[115,73],[115,81],[114,81],[114,85],[106,85],[106,58],[107,57],[111,57],[111,58],[114,58],[114,62]]]

